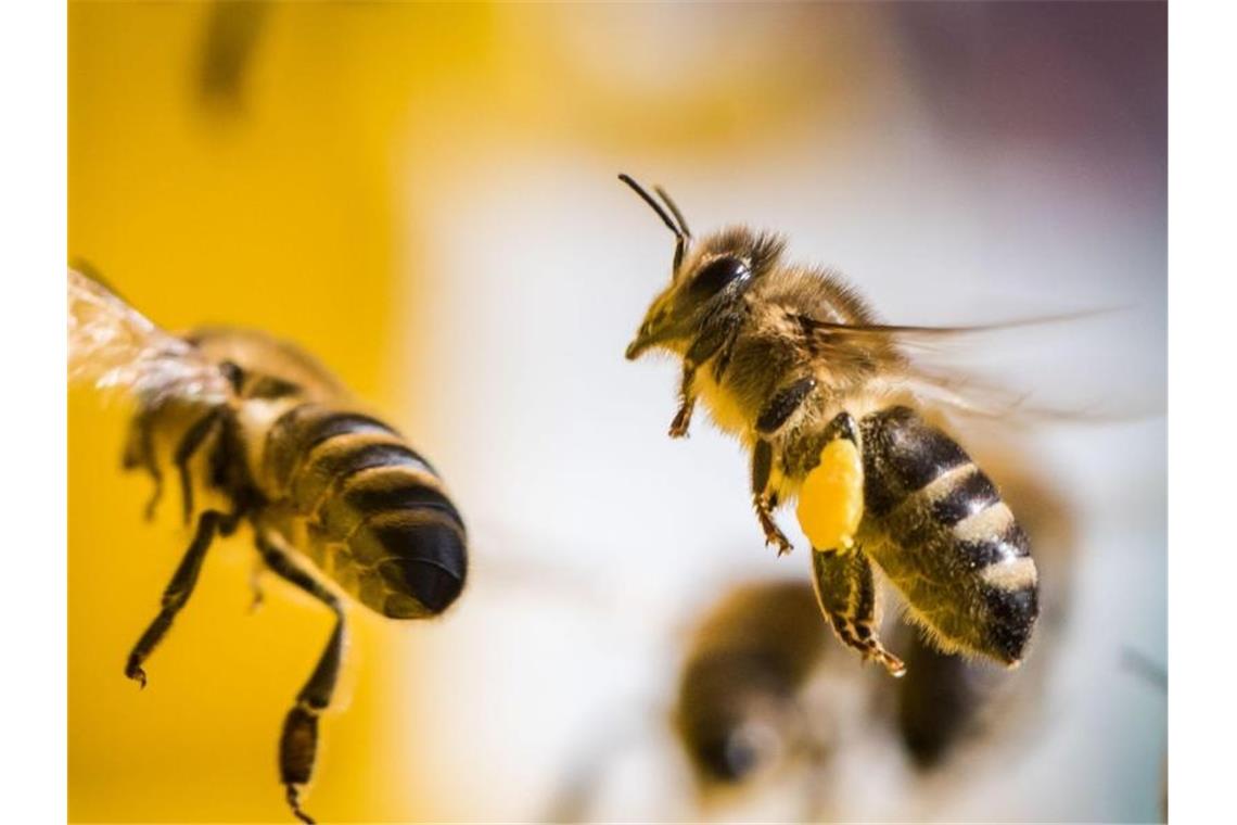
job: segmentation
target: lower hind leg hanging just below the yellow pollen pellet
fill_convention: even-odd
[[[857,547],[850,552],[811,552],[811,584],[816,602],[834,627],[837,638],[876,659],[891,675],[907,672],[902,659],[884,649],[876,636],[876,586],[872,563]]]

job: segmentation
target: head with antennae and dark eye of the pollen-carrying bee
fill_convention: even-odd
[[[732,226],[693,244],[687,221],[663,189],[654,187],[653,190],[669,213],[626,174],[620,174],[618,179],[635,189],[674,233],[670,283],[644,314],[636,338],[627,346],[627,359],[637,359],[654,346],[682,353],[708,318],[742,301],[751,283],[777,261],[785,241],[769,233]]]

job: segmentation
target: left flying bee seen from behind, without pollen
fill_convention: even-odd
[[[341,594],[391,618],[442,613],[464,588],[464,522],[433,466],[308,354],[259,331],[172,335],[96,280],[68,277],[71,380],[136,402],[124,466],[153,479],[147,516],[165,471],[176,472],[194,524],[125,675],[146,685],[146,659],[193,595],[212,542],[247,523],[265,566],[335,615],[280,738],[288,804],[309,823],[301,787],[339,675]]]

